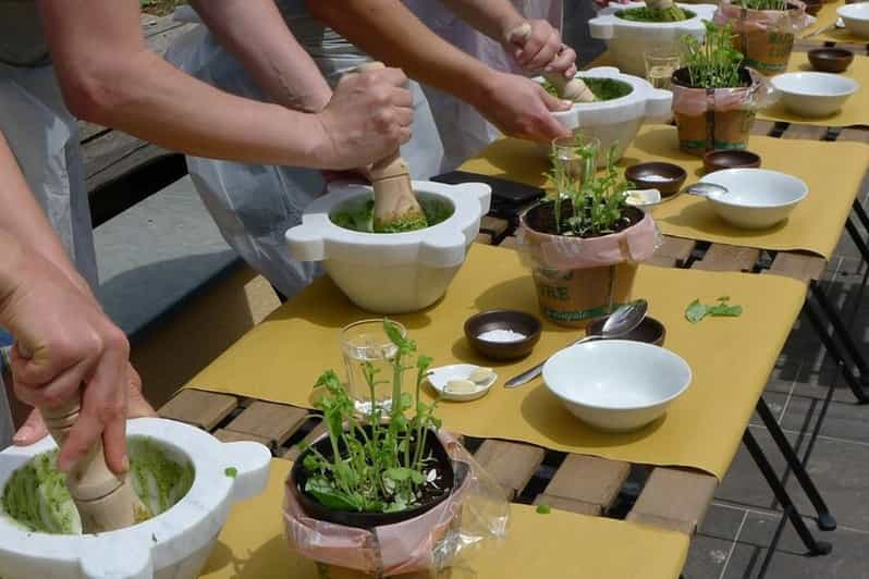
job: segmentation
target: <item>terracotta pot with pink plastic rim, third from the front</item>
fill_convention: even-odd
[[[673,73],[673,115],[680,149],[701,157],[710,150],[746,148],[760,81],[747,69],[741,76],[746,86],[706,89],[690,85],[687,69]]]

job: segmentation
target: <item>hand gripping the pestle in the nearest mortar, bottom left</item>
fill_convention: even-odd
[[[101,440],[109,467],[124,472],[126,337],[40,254],[2,230],[0,247],[0,325],[16,341],[11,353],[15,394],[44,408],[81,395],[59,468],[69,470]]]

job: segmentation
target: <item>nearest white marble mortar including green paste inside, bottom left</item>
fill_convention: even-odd
[[[0,577],[193,579],[233,503],[260,493],[271,454],[181,422],[127,422],[130,477],[149,518],[83,534],[50,438],[0,453]]]

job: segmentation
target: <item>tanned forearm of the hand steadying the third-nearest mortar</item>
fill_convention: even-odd
[[[350,41],[425,84],[479,104],[493,71],[431,32],[399,0],[307,0]]]

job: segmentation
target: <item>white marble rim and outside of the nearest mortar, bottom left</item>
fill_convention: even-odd
[[[232,504],[266,488],[271,453],[261,444],[222,443],[195,427],[160,418],[130,420],[126,432],[147,436],[193,463],[195,477],[187,494],[152,519],[99,534],[29,532],[0,513],[3,579],[194,579]],[[53,448],[54,442],[46,438],[0,453],[0,490],[16,469]],[[228,468],[235,469],[234,477],[227,475]]]

